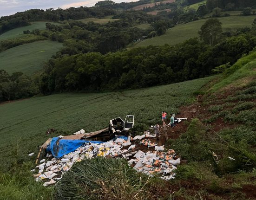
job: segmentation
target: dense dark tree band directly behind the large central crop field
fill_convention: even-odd
[[[205,27],[202,27],[201,31]],[[221,31],[221,30],[220,30]],[[256,46],[256,32],[238,30],[233,36],[216,34],[215,43],[192,38],[170,46],[134,48],[125,52],[65,55],[51,59],[44,69],[40,90],[63,91],[136,89],[209,76],[219,65],[231,65]]]

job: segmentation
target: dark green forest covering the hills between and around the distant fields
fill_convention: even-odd
[[[136,4],[147,3],[147,0]],[[198,0],[182,1],[188,5]],[[131,3],[117,4],[121,6]],[[222,31],[218,19],[209,19],[201,27],[198,38],[170,46],[149,46],[125,50],[127,45],[141,37],[151,38],[162,35],[168,28],[178,23],[200,19],[216,6],[224,10],[241,10],[241,14],[253,14],[247,6],[255,6],[252,0],[207,0],[206,5],[197,10],[184,11],[181,1],[159,4],[171,6],[171,12],[149,15],[144,11],[117,11],[109,6],[116,5],[106,0],[95,7],[63,9],[32,9],[4,16],[0,19],[0,32],[30,21],[58,21],[59,25],[46,23],[46,30],[24,31],[26,38],[0,41],[0,52],[13,46],[50,39],[63,43],[52,59],[44,66],[41,74],[27,77],[21,72],[12,75],[0,72],[0,101],[33,96],[38,93],[51,94],[63,91],[104,91],[127,88],[142,88],[159,84],[209,76],[218,66],[228,68],[237,59],[248,54],[256,46],[256,20],[252,28],[244,27],[228,32]],[[244,7],[241,7],[244,6]],[[248,12],[249,11],[249,12]],[[213,12],[214,13],[214,12]],[[217,15],[214,13],[213,15]],[[103,18],[113,15],[116,21],[106,24],[81,22],[83,18]],[[219,17],[219,16],[216,16]],[[136,27],[150,24],[147,29]],[[212,37],[208,37],[211,35]]]

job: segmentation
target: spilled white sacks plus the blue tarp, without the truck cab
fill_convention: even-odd
[[[164,145],[157,146],[156,143],[150,141],[146,141],[148,150],[144,150],[144,152],[138,149],[139,143],[145,142],[144,138],[153,137],[156,135],[151,135],[148,131],[145,131],[143,135],[130,138],[130,140],[127,136],[120,135],[108,142],[67,140],[54,137],[47,146],[47,159],[39,161],[40,164],[36,166],[36,170],[31,170],[31,172],[38,170],[33,177],[36,181],[46,181],[44,186],[49,186],[58,182],[74,163],[83,159],[97,156],[123,157],[129,160],[130,166],[138,172],[148,175],[159,174],[162,179],[170,180],[175,175],[173,170],[180,164],[180,158],[177,158],[174,150],[169,149],[167,152],[163,152]]]

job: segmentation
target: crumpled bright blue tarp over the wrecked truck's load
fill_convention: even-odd
[[[59,141],[59,144],[58,144]],[[53,137],[51,142],[48,144],[46,151],[51,152],[55,158],[60,158],[65,154],[73,152],[77,148],[81,147],[85,143],[100,144],[103,142],[99,141],[86,141],[86,140],[60,140],[59,137]]]

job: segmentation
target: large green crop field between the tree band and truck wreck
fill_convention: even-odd
[[[192,93],[212,78],[123,92],[55,94],[0,104],[0,113],[4,113],[0,115],[0,168],[10,164],[14,149],[18,149],[20,161],[34,161],[35,155],[30,158],[27,154],[37,152],[37,146],[49,137],[71,135],[79,129],[103,129],[118,116],[134,115],[135,125],[153,125],[159,122],[163,110],[169,115],[178,113],[180,106],[193,102]],[[48,128],[59,132],[46,135]]]

